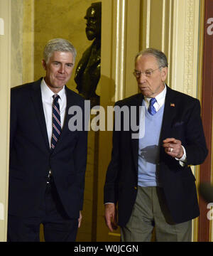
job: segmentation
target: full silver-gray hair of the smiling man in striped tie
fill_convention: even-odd
[[[75,63],[75,57],[77,55],[77,52],[75,50],[75,47],[72,46],[72,43],[70,43],[70,41],[62,38],[54,38],[48,41],[43,51],[43,58],[46,63],[48,63],[51,55],[55,51],[72,53],[73,61]]]

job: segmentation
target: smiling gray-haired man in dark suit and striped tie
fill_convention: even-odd
[[[9,241],[39,241],[40,223],[45,241],[74,241],[80,227],[87,132],[83,120],[69,127],[68,111],[84,117],[84,99],[65,85],[75,56],[69,41],[50,40],[45,78],[11,89]]]

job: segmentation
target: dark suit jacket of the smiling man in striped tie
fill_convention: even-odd
[[[60,139],[51,151],[41,100],[41,79],[11,89],[9,214],[39,216],[51,169],[67,215],[78,218],[83,206],[87,132],[70,132],[68,110],[80,106],[84,117],[84,100],[65,87],[65,122]]]

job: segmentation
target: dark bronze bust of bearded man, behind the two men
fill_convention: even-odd
[[[87,20],[86,34],[92,45],[84,51],[75,71],[77,90],[86,100],[90,100],[91,107],[99,105],[96,94],[101,69],[101,31],[102,31],[102,3],[91,4],[84,17]]]

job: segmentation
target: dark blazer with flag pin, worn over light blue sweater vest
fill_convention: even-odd
[[[133,95],[116,105],[141,106],[143,95]],[[137,115],[139,116],[139,115]],[[131,117],[130,117],[131,120]],[[121,125],[123,119],[121,118]],[[139,124],[139,118],[137,120]],[[119,225],[128,222],[136,201],[138,186],[138,139],[131,139],[130,130],[114,131],[111,162],[104,186],[104,203],[118,202]],[[180,139],[185,146],[187,163],[184,167],[160,148],[159,178],[163,183],[165,198],[173,221],[182,223],[200,214],[195,176],[190,165],[202,164],[207,147],[200,118],[199,100],[167,87],[160,145],[163,139]]]

